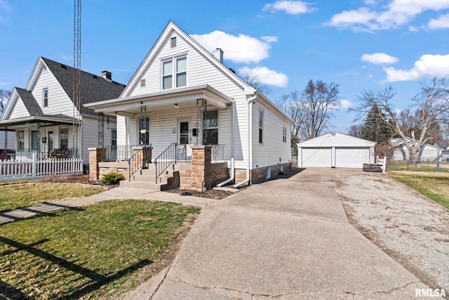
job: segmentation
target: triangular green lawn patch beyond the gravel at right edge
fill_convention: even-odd
[[[388,174],[449,209],[449,174],[417,171],[389,171]]]

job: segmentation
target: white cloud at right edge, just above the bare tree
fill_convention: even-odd
[[[384,67],[387,81],[410,81],[421,77],[443,77],[449,74],[449,54],[445,56],[424,54],[410,70],[396,70],[394,67]]]

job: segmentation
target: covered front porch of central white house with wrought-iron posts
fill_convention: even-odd
[[[223,161],[232,157],[233,103],[205,85],[85,106],[117,116],[117,145],[107,151],[112,154],[109,160],[115,152],[130,152],[136,145],[151,145],[156,159],[176,144],[178,160],[192,160],[194,145],[212,145],[213,159]]]

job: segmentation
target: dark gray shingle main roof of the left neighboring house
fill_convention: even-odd
[[[42,60],[58,79],[67,96],[73,101],[74,68],[48,58],[42,58]],[[81,70],[81,114],[97,115],[92,109],[83,107],[83,104],[119,98],[123,89],[125,89],[124,84],[107,81],[101,76]]]

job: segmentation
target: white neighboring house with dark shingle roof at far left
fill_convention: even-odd
[[[111,80],[111,73],[81,71],[81,104],[118,97],[123,84]],[[63,157],[82,157],[88,164],[88,147],[116,143],[116,118],[103,115],[73,100],[74,69],[39,57],[25,89],[15,87],[0,118],[0,129],[15,131],[15,159],[29,159],[32,153],[47,158],[57,152]],[[99,134],[99,119],[102,134]],[[79,120],[79,121],[77,121]],[[12,145],[11,145],[12,146]],[[8,148],[11,148],[8,143]]]

